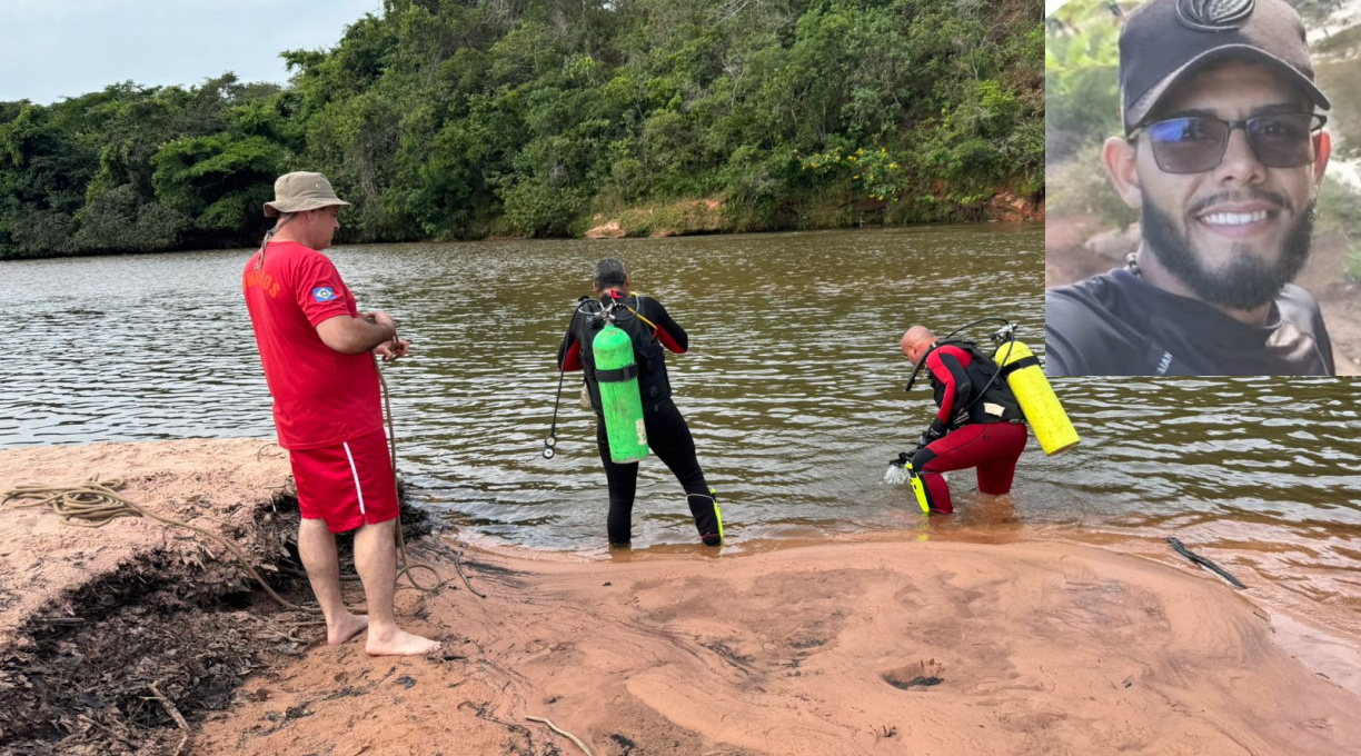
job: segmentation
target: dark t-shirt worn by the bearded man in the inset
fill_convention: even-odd
[[[1267,325],[1169,294],[1124,268],[1044,296],[1045,375],[1332,375],[1319,303],[1294,284]]]

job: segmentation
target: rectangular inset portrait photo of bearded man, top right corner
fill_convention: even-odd
[[[1048,375],[1361,375],[1361,0],[1048,0]]]

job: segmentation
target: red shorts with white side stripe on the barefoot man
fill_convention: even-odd
[[[397,517],[397,488],[388,436],[372,434],[321,449],[290,451],[304,519],[324,519],[332,533]]]

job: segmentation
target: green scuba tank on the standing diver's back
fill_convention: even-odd
[[[614,324],[607,324],[591,341],[591,351],[600,383],[600,412],[610,438],[610,458],[617,465],[637,462],[648,456],[648,430],[642,423],[633,340]]]

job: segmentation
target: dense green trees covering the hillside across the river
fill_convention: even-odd
[[[344,241],[580,233],[716,199],[732,230],[1043,199],[1038,0],[387,0],[287,87],[226,73],[0,103],[0,258],[255,243],[289,170]]]

